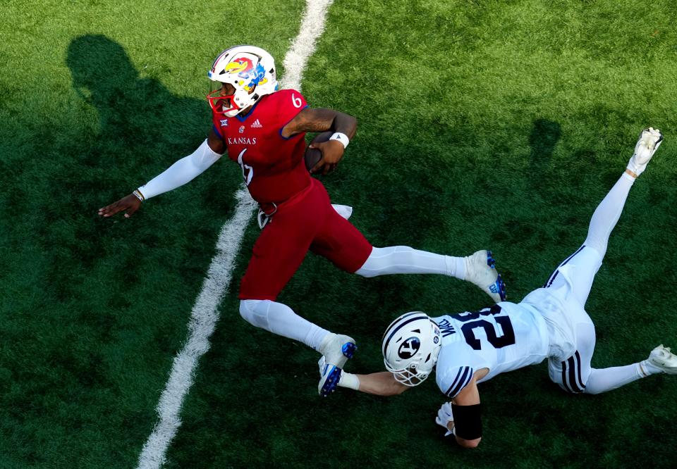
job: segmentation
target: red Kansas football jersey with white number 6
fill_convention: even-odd
[[[305,134],[281,135],[282,127],[306,106],[300,92],[281,89],[263,96],[245,116],[214,113],[214,130],[224,139],[228,158],[242,168],[255,201],[279,203],[310,185],[303,161]]]

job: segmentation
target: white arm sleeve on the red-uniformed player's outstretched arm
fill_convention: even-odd
[[[219,158],[221,158],[221,155],[209,148],[207,139],[205,139],[205,142],[202,142],[202,145],[193,151],[193,154],[181,158],[164,170],[163,173],[147,182],[146,185],[139,187],[138,190],[145,199],[150,199],[163,192],[169,192],[204,173]]]

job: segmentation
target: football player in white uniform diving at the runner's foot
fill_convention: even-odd
[[[626,171],[590,220],[583,246],[566,258],[542,288],[519,304],[502,301],[476,313],[430,318],[401,315],[389,325],[382,351],[387,372],[343,372],[341,387],[379,395],[400,394],[420,384],[437,365],[437,385],[451,399],[436,421],[461,446],[482,438],[477,383],[548,359],[550,379],[566,392],[599,394],[655,373],[677,374],[677,356],[662,345],[646,360],[614,368],[590,366],[594,325],[585,312],[594,275],[602,265],[611,230],[635,178],[646,168],[663,136],[643,130]],[[320,360],[322,368],[322,360]]]

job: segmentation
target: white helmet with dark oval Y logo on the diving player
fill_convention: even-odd
[[[421,384],[437,363],[442,334],[437,323],[420,311],[405,313],[383,334],[383,362],[406,386]]]

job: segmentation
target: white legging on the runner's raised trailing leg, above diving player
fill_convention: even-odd
[[[374,247],[367,261],[355,273],[362,277],[435,273],[465,280],[465,261],[462,257],[433,254],[409,246]]]

